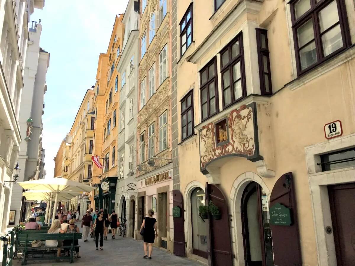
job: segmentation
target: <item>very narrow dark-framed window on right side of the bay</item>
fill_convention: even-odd
[[[256,28],[256,46],[258,49],[260,92],[261,95],[271,95],[271,68],[266,29]]]

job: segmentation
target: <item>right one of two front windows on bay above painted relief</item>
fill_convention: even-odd
[[[220,62],[225,108],[246,96],[242,33],[220,51]]]

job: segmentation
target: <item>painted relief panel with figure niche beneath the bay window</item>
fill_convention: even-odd
[[[258,160],[256,107],[242,105],[228,115],[203,126],[199,131],[200,166],[203,171],[223,156],[242,156]]]

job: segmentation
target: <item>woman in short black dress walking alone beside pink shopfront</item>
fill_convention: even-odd
[[[142,231],[142,228],[144,227],[144,234],[143,234],[143,248],[144,248],[144,259],[148,257],[149,260],[152,259],[152,250],[153,250],[153,243],[154,243],[154,231],[155,231],[155,237],[158,237],[158,230],[157,230],[157,220],[153,218],[154,211],[153,210],[148,210],[148,215],[147,217],[144,217],[142,226],[140,231]],[[147,249],[149,247],[149,256],[147,255]]]

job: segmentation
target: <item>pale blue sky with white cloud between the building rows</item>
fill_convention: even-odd
[[[115,16],[125,12],[127,2],[46,0],[43,10],[31,15],[42,20],[40,46],[50,53],[42,132],[46,177],[53,177],[53,158],[86,90],[95,84],[99,54],[107,51]]]

